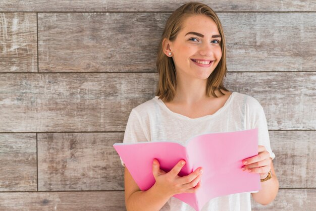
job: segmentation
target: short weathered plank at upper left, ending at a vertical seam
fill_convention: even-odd
[[[0,22],[0,73],[37,72],[36,13],[0,13]]]

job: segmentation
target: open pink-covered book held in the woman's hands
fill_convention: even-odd
[[[183,146],[177,141],[115,143],[114,148],[141,190],[155,183],[153,159],[169,172],[181,159],[186,161],[179,176],[203,168],[201,187],[196,193],[176,194],[176,197],[200,211],[210,199],[261,189],[257,173],[242,171],[242,160],[258,154],[258,129],[207,133],[191,137]]]

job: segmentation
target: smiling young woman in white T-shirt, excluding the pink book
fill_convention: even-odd
[[[132,109],[123,142],[185,143],[199,134],[258,128],[259,153],[245,159],[240,171],[259,173],[261,190],[214,198],[202,210],[251,210],[250,195],[261,204],[274,200],[279,182],[272,163],[275,154],[270,147],[266,116],[255,98],[231,92],[223,85],[227,71],[225,36],[215,12],[201,3],[178,8],[166,23],[156,66],[160,77],[156,96]],[[166,173],[154,160],[155,184],[146,191],[139,189],[125,168],[127,210],[194,210],[172,197],[194,193],[203,185],[199,171],[203,167],[180,177],[184,165],[183,160],[179,161]]]

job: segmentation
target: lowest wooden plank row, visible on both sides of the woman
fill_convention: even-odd
[[[252,210],[314,210],[315,189],[281,189],[275,199],[266,206],[253,199]],[[0,193],[0,210],[116,210],[125,208],[123,191],[80,192],[15,192]]]

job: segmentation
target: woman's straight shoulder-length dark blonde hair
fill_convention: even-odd
[[[157,91],[155,95],[159,96],[161,99],[165,99],[166,101],[171,101],[176,94],[177,78],[172,57],[167,57],[163,51],[163,41],[165,38],[169,39],[170,41],[175,40],[179,31],[182,29],[182,24],[185,18],[191,17],[193,15],[206,15],[212,18],[215,21],[222,36],[222,58],[215,70],[207,79],[206,94],[207,96],[212,94],[214,97],[218,97],[215,94],[215,90],[218,89],[222,94],[224,93],[221,91],[221,89],[229,91],[224,87],[224,78],[226,77],[227,67],[225,49],[226,42],[222,24],[216,13],[207,5],[197,2],[190,2],[182,5],[170,15],[159,44],[156,60],[157,71],[159,73],[159,83],[157,85]]]

